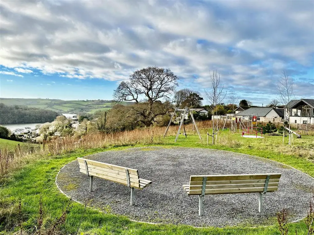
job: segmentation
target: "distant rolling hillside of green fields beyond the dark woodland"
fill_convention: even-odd
[[[55,100],[55,99],[19,99],[0,98],[0,103],[5,105],[26,105],[28,107],[51,110],[57,113],[76,113],[108,110],[114,102],[112,100]],[[122,102],[122,104],[133,104],[132,102]]]

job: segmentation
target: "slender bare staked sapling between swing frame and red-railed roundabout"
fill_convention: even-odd
[[[222,87],[220,86],[220,74],[217,73],[217,70],[213,70],[213,73],[211,73],[209,75],[210,78],[210,82],[211,82],[211,91],[206,91],[206,89],[204,89],[204,92],[207,96],[207,101],[210,104],[210,109],[211,109],[211,113],[213,114],[213,132],[212,132],[212,144],[214,144],[214,115],[215,112],[217,114],[217,108],[216,106],[219,103],[222,103],[222,101],[225,99],[226,97],[226,93],[223,92],[224,90],[224,85],[222,85]]]

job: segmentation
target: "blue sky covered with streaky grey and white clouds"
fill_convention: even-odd
[[[0,1],[0,97],[112,99],[137,69],[160,66],[177,90],[210,90],[253,105],[314,98],[314,1]],[[206,104],[206,99],[204,101]]]

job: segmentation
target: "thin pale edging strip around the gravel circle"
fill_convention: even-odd
[[[185,146],[184,146],[184,147],[181,147],[181,146],[171,146],[171,145],[165,145],[165,146],[157,145],[157,146],[143,146],[143,147],[126,147],[126,149],[127,149],[127,148],[149,148],[149,147],[161,147],[161,148],[162,148],[162,147],[173,147],[173,148],[179,147],[179,148],[189,148],[189,149],[209,149],[209,148],[185,147]],[[117,151],[123,151],[123,150],[124,150],[124,149],[117,150]],[[261,159],[266,159],[266,160],[268,160],[268,161],[276,162],[276,163],[279,163],[279,164],[288,166],[288,167],[290,167],[290,168],[292,168],[292,169],[295,169],[295,170],[301,172],[302,174],[304,174],[304,175],[306,175],[306,176],[308,176],[308,177],[310,177],[310,178],[312,178],[312,179],[314,180],[314,177],[312,177],[311,175],[308,175],[308,174],[306,174],[305,172],[303,172],[303,171],[301,171],[301,170],[298,170],[298,169],[296,169],[296,168],[294,168],[294,167],[292,167],[292,166],[290,166],[290,165],[287,165],[287,164],[284,164],[284,163],[281,163],[281,162],[277,162],[277,161],[272,160],[272,159],[263,158],[263,157],[259,157],[259,156],[254,156],[254,155],[250,155],[250,154],[243,154],[243,153],[239,153],[239,152],[228,151],[228,150],[221,150],[221,149],[211,149],[211,150],[224,151],[224,152],[232,152],[232,153],[237,153],[237,154],[242,154],[242,155],[257,157],[257,158],[261,158]],[[108,152],[108,151],[116,151],[116,150],[107,150],[107,151],[102,151],[102,152]],[[97,153],[102,153],[102,152],[97,152]],[[88,155],[84,156],[84,158],[87,157],[87,156],[90,156],[90,155],[94,155],[94,154],[96,154],[96,153],[88,154]],[[73,160],[73,161],[71,161],[71,162],[74,162],[74,161],[76,161],[76,160]],[[71,162],[67,163],[66,165],[70,164]],[[70,196],[68,196],[67,194],[65,194],[65,193],[62,191],[62,189],[59,187],[59,185],[57,184],[57,177],[58,177],[60,171],[61,171],[61,170],[63,169],[63,167],[65,167],[66,165],[62,166],[62,167],[60,168],[60,170],[58,171],[58,173],[57,173],[57,175],[56,175],[56,177],[55,177],[55,185],[57,186],[58,190],[59,190],[62,194],[64,194],[66,197],[70,198],[72,201],[75,201],[75,202],[77,202],[77,203],[82,204],[82,205],[85,206],[84,203],[82,203],[82,202],[80,202],[80,201],[77,201],[77,200],[74,200],[74,199],[72,199],[72,197],[70,197]],[[102,212],[101,210],[98,210],[98,209],[96,209],[96,208],[94,208],[94,207],[92,207],[92,206],[88,206],[88,205],[86,205],[86,206],[89,207],[89,208],[92,208],[92,209],[94,209],[94,210],[96,210],[96,211],[99,211],[99,212],[101,212],[101,213],[104,213],[104,212]],[[290,223],[299,222],[299,221],[303,220],[304,218],[306,218],[306,216],[303,217],[303,218],[300,218],[300,219],[298,219],[298,220],[292,221],[292,222],[290,222]],[[129,219],[130,221],[133,221],[133,222],[147,223],[147,224],[154,224],[154,225],[161,225],[160,223],[144,222],[144,221],[133,220],[133,219],[130,219],[130,218],[128,218],[128,219]],[[195,226],[192,226],[192,225],[186,225],[186,226],[195,227]],[[268,226],[256,226],[256,227],[247,227],[247,228],[272,227],[272,226],[273,226],[273,225],[268,225]],[[233,226],[233,227],[237,227],[237,226]],[[208,228],[208,227],[195,227],[195,228]]]

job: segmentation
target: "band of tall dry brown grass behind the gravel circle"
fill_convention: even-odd
[[[214,120],[214,124],[216,125],[217,120]],[[263,123],[266,125],[266,123]],[[230,123],[226,123],[225,127],[230,128]],[[278,124],[279,126],[280,124]],[[197,134],[195,128],[192,123],[185,124],[185,129],[188,134]],[[197,122],[197,126],[203,135],[206,136],[206,132],[210,132],[209,129],[212,126],[212,121],[200,121]],[[218,128],[221,129],[224,126],[224,120],[220,120],[218,123]],[[173,139],[163,138],[166,127],[149,127],[149,128],[141,128],[135,129],[132,131],[123,131],[117,133],[87,133],[81,137],[76,136],[68,136],[62,138],[55,138],[49,142],[46,142],[45,145],[23,145],[16,146],[14,149],[9,149],[6,147],[0,148],[0,181],[3,178],[7,178],[10,173],[18,169],[20,166],[25,165],[30,159],[38,159],[43,156],[49,155],[59,155],[65,154],[76,149],[92,149],[92,148],[106,148],[111,146],[132,146],[136,144],[168,144],[172,143]],[[175,136],[178,131],[178,125],[171,125],[167,132],[167,136]],[[181,130],[183,133],[183,128]],[[206,144],[206,137],[200,142],[202,144]],[[236,136],[232,135],[232,133],[227,135],[219,135],[217,144],[225,145],[232,148],[240,148],[243,144],[241,144],[239,139],[236,139]],[[267,145],[267,146],[266,146]],[[243,146],[242,146],[243,147]],[[245,147],[245,146],[244,146]],[[312,159],[311,149],[308,149],[308,144],[295,146],[295,147],[287,147],[265,143],[265,146],[252,146],[256,149],[274,149],[277,151],[280,149],[282,153],[293,154],[299,156],[308,156],[308,159]],[[1,183],[1,182],[0,182]]]

